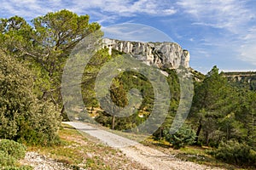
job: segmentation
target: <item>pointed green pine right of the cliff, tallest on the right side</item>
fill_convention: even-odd
[[[195,87],[190,119],[197,124],[196,143],[203,129],[205,142],[208,144],[210,134],[218,128],[218,118],[230,112],[230,92],[231,88],[226,78],[218,73],[217,66],[214,66],[204,81]]]

